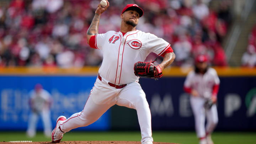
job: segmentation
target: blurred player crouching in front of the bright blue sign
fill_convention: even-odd
[[[34,90],[30,92],[29,105],[31,114],[28,121],[27,135],[34,137],[38,116],[41,116],[44,126],[44,135],[50,137],[52,132],[52,122],[50,120],[50,106],[52,98],[48,91],[44,90],[41,84],[36,84]]]

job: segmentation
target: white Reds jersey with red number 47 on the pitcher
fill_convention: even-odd
[[[108,31],[93,37],[90,46],[103,50],[103,61],[99,69],[102,78],[113,84],[128,84],[139,81],[134,75],[134,64],[143,62],[150,52],[163,54],[170,44],[154,34],[139,30],[122,32]]]

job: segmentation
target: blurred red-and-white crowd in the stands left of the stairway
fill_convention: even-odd
[[[138,30],[169,42],[174,65],[191,66],[198,54],[227,65],[221,46],[231,23],[231,0],[109,0],[99,32],[119,31],[123,7],[144,10]],[[102,52],[89,47],[86,32],[100,0],[1,0],[0,66],[95,66]]]

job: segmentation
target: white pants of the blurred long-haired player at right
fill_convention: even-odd
[[[206,133],[212,133],[218,123],[217,106],[213,105],[209,110],[206,110],[204,108],[205,101],[206,99],[202,97],[190,97],[198,138],[205,137]],[[205,119],[207,119],[206,127]]]

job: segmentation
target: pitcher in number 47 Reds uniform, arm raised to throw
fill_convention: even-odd
[[[108,3],[108,2],[107,2]],[[107,9],[98,5],[87,31],[87,41],[92,48],[103,51],[103,62],[98,78],[91,90],[84,110],[66,119],[60,116],[52,132],[52,142],[58,143],[65,132],[94,123],[111,106],[117,104],[137,110],[142,134],[142,144],[152,144],[151,114],[139,77],[134,75],[134,64],[144,61],[150,52],[164,56],[159,64],[166,68],[175,59],[170,44],[153,34],[136,30],[143,10],[136,4],[124,7],[119,32],[98,34],[100,15]]]

